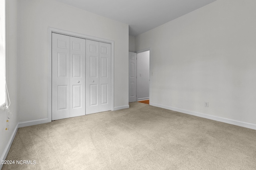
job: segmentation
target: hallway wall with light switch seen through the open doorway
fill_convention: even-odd
[[[149,99],[149,51],[137,53],[137,100]]]

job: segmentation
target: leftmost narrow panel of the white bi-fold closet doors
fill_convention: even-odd
[[[52,33],[52,120],[70,116],[70,37]]]

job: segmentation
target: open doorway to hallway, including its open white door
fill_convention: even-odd
[[[129,102],[149,103],[150,49],[129,52]]]

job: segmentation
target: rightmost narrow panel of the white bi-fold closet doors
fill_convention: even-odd
[[[100,42],[99,54],[99,111],[108,111],[111,108],[111,45]]]

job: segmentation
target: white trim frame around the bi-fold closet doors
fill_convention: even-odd
[[[49,44],[48,122],[52,121],[52,33],[60,33],[60,34],[68,35],[72,37],[90,39],[93,41],[99,41],[99,42],[111,44],[111,94],[110,94],[111,101],[110,102],[111,102],[111,110],[113,111],[114,110],[114,41],[49,27],[48,28],[48,44]]]

